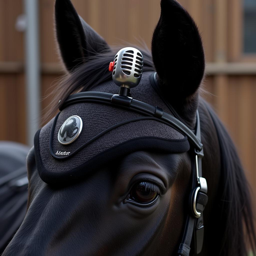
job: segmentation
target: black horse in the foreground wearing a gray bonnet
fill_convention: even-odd
[[[166,122],[103,100],[77,100],[63,107],[79,93],[118,94],[108,71],[117,49],[77,14],[70,0],[56,0],[56,37],[67,75],[55,89],[49,115],[58,108],[61,112],[35,136],[27,156],[26,216],[3,256],[255,252],[242,165],[228,132],[201,96],[205,57],[200,33],[177,1],[160,4],[151,53],[135,47],[144,67],[131,97],[157,106],[156,116],[168,113],[190,133],[200,124],[202,177],[208,186],[200,252],[193,250],[193,242],[191,249],[190,244],[179,247],[190,216],[194,169],[195,151],[187,137]],[[82,131],[76,141],[62,145],[58,131],[75,115],[83,122]]]

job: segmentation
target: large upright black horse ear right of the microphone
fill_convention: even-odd
[[[175,0],[161,0],[152,57],[159,86],[172,104],[184,103],[197,91],[205,69],[202,41],[193,18]]]

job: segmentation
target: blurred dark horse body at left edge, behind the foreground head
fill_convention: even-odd
[[[0,141],[0,254],[21,225],[27,210],[26,156],[29,147]]]

